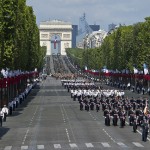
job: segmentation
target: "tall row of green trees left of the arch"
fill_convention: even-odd
[[[43,65],[39,29],[26,0],[0,0],[0,70],[34,70]]]

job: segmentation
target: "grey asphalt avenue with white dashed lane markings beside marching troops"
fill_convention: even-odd
[[[128,122],[107,127],[102,111],[80,111],[60,80],[48,77],[7,117],[0,150],[149,150],[150,139],[141,138],[141,130],[133,133]]]

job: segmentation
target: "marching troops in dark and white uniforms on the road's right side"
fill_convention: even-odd
[[[80,110],[103,112],[106,126],[124,128],[129,122],[133,132],[142,130],[142,141],[147,140],[150,112],[146,98],[125,97],[124,90],[103,89],[88,80],[61,80],[62,86],[70,92],[73,101],[78,101]]]

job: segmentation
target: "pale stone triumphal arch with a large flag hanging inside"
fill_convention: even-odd
[[[47,47],[46,55],[66,55],[72,47],[72,25],[69,22],[51,20],[40,23],[40,45]]]

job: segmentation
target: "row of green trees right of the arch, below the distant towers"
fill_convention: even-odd
[[[133,65],[136,65],[142,69],[144,63],[150,65],[150,17],[134,25],[120,25],[104,39],[101,47],[80,51],[80,60],[77,52],[72,52],[71,49],[67,50],[67,54],[81,68],[87,65],[89,69],[107,66],[112,70],[133,70]]]

